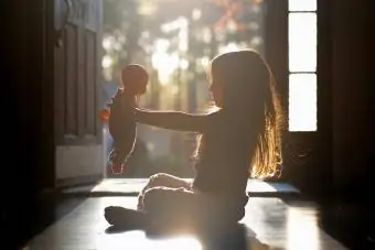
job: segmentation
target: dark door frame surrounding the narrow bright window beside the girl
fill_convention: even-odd
[[[266,0],[266,59],[270,64],[285,108],[281,181],[310,194],[328,194],[332,187],[332,86],[330,78],[330,3],[317,0],[318,131],[288,131],[289,43],[288,0]],[[315,185],[319,183],[319,185]]]

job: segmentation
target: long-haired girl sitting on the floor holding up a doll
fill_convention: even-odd
[[[211,62],[214,110],[206,115],[135,108],[137,122],[201,135],[192,183],[157,174],[139,195],[138,210],[107,207],[115,226],[235,225],[245,215],[246,185],[271,177],[280,164],[281,108],[272,74],[251,50],[224,53]]]

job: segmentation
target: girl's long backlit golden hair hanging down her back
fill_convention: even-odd
[[[279,174],[283,113],[267,63],[253,50],[229,52],[212,61],[208,74],[223,87],[223,110],[233,116],[246,113],[243,119],[251,122],[250,176],[269,178]],[[205,134],[197,137],[196,159],[203,151],[204,139]]]

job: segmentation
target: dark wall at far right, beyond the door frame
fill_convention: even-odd
[[[374,10],[372,0],[331,1],[333,184],[342,191],[375,177]]]

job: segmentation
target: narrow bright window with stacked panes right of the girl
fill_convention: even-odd
[[[317,0],[289,0],[289,131],[317,131]]]

